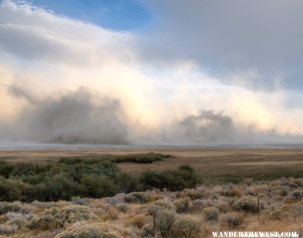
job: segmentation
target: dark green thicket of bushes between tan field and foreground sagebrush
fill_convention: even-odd
[[[199,183],[193,168],[188,165],[182,165],[177,170],[166,170],[161,173],[147,171],[134,176],[122,172],[116,163],[112,162],[111,157],[107,157],[101,159],[62,158],[58,163],[38,165],[1,163],[0,172],[3,173],[0,173],[0,202],[70,201],[72,199],[73,204],[88,205],[89,200],[82,197],[111,197],[117,193],[145,191],[153,187],[176,191],[194,188]],[[136,160],[138,163],[150,163],[167,157],[169,156],[147,153],[114,158],[115,162]],[[144,200],[138,198],[139,202],[163,197],[160,194],[149,195],[150,197]],[[197,196],[197,194],[190,193],[189,196]]]

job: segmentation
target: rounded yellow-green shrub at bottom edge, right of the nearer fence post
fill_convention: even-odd
[[[201,225],[194,218],[181,216],[173,223],[170,231],[172,237],[200,238]]]

